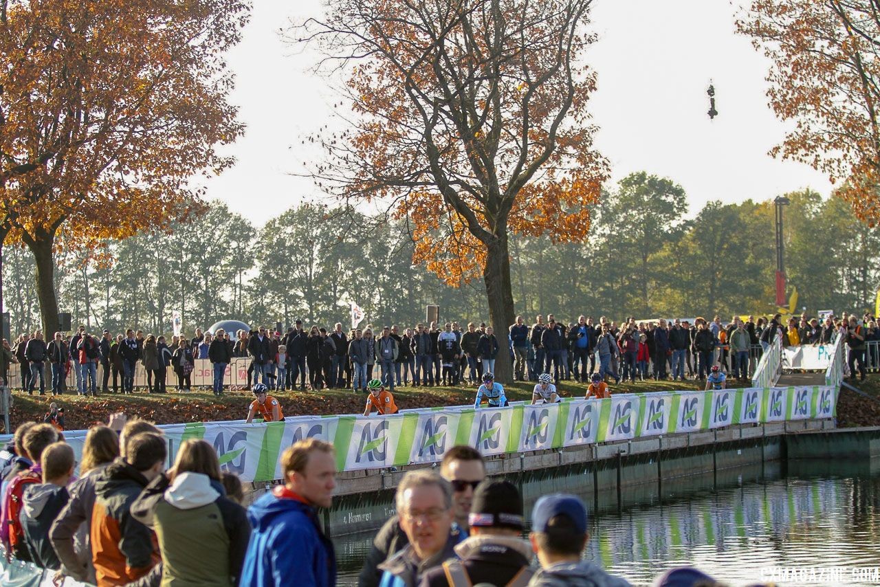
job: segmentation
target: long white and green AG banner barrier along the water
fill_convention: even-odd
[[[212,444],[223,469],[242,481],[273,481],[282,478],[282,451],[308,437],[335,445],[340,471],[358,471],[436,463],[455,444],[492,456],[733,424],[832,418],[838,390],[823,385],[637,393],[537,406],[515,402],[509,407],[425,408],[386,416],[294,416],[284,422],[190,422],[159,428],[168,439],[168,466],[180,443],[198,438]],[[66,431],[64,436],[78,455],[85,431]]]

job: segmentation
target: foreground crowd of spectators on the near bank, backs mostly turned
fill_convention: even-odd
[[[29,422],[0,452],[0,545],[48,579],[98,587],[236,585],[332,587],[334,544],[319,524],[336,480],[333,444],[308,438],[283,451],[281,484],[250,507],[238,478],[222,473],[214,447],[168,444],[150,422],[114,415],[85,437],[82,462],[48,424]],[[531,532],[517,486],[487,478],[479,451],[454,446],[435,471],[408,471],[396,514],[373,540],[363,587],[626,587],[583,559],[589,519],[576,495],[542,496]],[[673,569],[662,586],[720,584]],[[24,584],[24,583],[22,583]]]

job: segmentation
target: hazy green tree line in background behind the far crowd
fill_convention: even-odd
[[[846,202],[813,191],[787,194],[786,266],[798,305],[859,311],[880,282],[880,229],[857,222]],[[694,316],[771,312],[773,202],[708,202],[689,215],[684,190],[638,172],[605,190],[581,244],[515,235],[510,247],[518,313]],[[488,319],[479,280],[451,287],[413,265],[406,220],[301,204],[257,228],[212,202],[194,221],[168,231],[106,241],[86,256],[55,254],[62,311],[92,328],[169,332],[219,319],[252,324],[348,327],[350,302],[376,324],[412,324],[425,305],[450,319]],[[13,334],[40,323],[32,254],[4,246],[4,303]]]

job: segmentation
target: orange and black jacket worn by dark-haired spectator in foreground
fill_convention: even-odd
[[[160,560],[155,534],[131,515],[146,486],[146,477],[123,459],[107,466],[95,484],[92,562],[98,587],[136,581]]]

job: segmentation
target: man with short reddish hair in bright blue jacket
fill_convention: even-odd
[[[284,485],[263,495],[247,511],[253,526],[242,585],[333,587],[333,543],[321,532],[315,508],[329,508],[336,487],[333,444],[301,440],[281,458]]]

